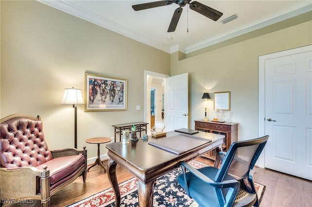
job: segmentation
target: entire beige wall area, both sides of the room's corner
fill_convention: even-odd
[[[64,88],[84,89],[84,73],[128,79],[128,110],[84,112],[78,106],[78,148],[112,137],[112,124],[144,120],[144,70],[189,72],[189,127],[204,118],[204,92],[231,91],[239,139],[258,135],[258,56],[312,44],[312,21],[204,52],[184,60],[37,1],[0,1],[0,117],[40,115],[50,149],[73,147],[74,109],[60,105]],[[136,110],[141,105],[141,110]],[[213,101],[208,101],[211,119]],[[101,145],[101,154],[106,154]]]

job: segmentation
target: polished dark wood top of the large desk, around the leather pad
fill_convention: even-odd
[[[189,154],[195,153],[198,149],[190,150],[181,155],[176,155],[174,153],[165,151],[163,149],[157,148],[148,144],[149,141],[156,141],[161,138],[169,138],[176,135],[180,135],[178,132],[167,132],[166,137],[154,138],[149,136],[149,139],[142,140],[139,138],[138,141],[130,141],[129,144],[122,144],[121,142],[110,143],[106,145],[106,148],[109,150],[109,156],[114,159],[121,159],[132,166],[135,166],[140,171],[148,171],[155,168],[163,163],[167,163],[170,160],[177,160],[179,157],[187,156]],[[199,132],[193,136],[198,138],[207,138],[211,139],[211,142],[207,142],[200,146],[199,148],[205,148],[209,145],[215,145],[215,142],[220,142],[223,140],[223,135],[208,133],[208,132]],[[177,143],[178,145],[179,143]],[[215,147],[215,146],[214,146]],[[115,160],[115,159],[114,159]]]

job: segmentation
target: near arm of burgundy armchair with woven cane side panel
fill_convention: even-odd
[[[50,171],[46,170],[46,165],[44,167],[45,170],[38,170],[35,167],[0,168],[0,197],[41,199],[40,178],[50,179]]]

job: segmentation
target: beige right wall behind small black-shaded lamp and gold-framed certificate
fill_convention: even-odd
[[[231,121],[239,123],[238,139],[258,136],[258,56],[312,44],[312,21],[178,60],[171,55],[171,76],[189,72],[189,127],[204,118],[209,92],[208,117],[213,118],[213,93],[231,91]]]

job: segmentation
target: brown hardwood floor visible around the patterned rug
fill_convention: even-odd
[[[213,165],[209,159],[198,157],[197,161]],[[103,161],[106,165],[107,161]],[[126,181],[132,176],[117,165],[117,179]],[[254,181],[266,186],[260,207],[310,207],[312,203],[312,181],[278,173],[268,169],[255,168]],[[51,197],[51,207],[64,207],[81,199],[94,195],[110,188],[107,173],[100,166],[95,166],[87,173],[86,183],[82,177],[67,185],[64,189]],[[16,207],[5,204],[3,207]],[[20,207],[40,207],[40,202],[34,204],[18,205]]]

